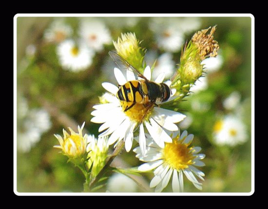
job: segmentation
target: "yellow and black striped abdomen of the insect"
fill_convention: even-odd
[[[140,81],[130,81],[120,86],[116,97],[121,101],[141,103],[144,93]]]

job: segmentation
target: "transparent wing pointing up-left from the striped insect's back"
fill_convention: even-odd
[[[119,67],[120,70],[129,70],[134,73],[135,76],[147,80],[139,71],[137,71],[130,63],[125,61],[119,54],[109,51],[109,55],[114,60],[115,64]]]

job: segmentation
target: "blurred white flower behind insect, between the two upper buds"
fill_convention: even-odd
[[[156,51],[148,51],[145,54],[147,65],[152,66],[155,60],[152,78],[155,80],[161,73],[165,73],[166,78],[171,78],[175,71],[175,62],[172,60],[172,54],[166,52],[159,57],[157,57]]]

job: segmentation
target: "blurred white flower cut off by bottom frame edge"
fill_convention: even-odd
[[[107,182],[109,192],[136,192],[137,184],[129,177],[121,174],[113,174]]]

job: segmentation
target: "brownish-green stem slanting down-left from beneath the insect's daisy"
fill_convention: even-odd
[[[115,157],[120,153],[120,151],[123,148],[123,146],[124,146],[124,141],[121,140],[118,143],[118,145],[115,147],[115,150],[114,150],[113,154],[110,157],[107,158],[108,160],[107,160],[105,166],[99,171],[99,173],[96,175],[96,177],[91,180],[91,182],[89,184],[89,188],[93,188],[93,186],[101,179],[101,177],[103,177],[103,175],[107,171],[107,168],[110,167],[110,164],[113,162]]]

